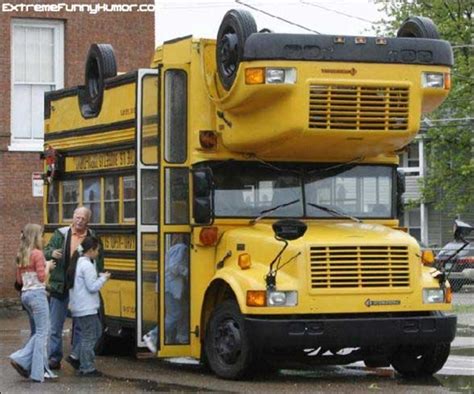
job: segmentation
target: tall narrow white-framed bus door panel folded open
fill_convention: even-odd
[[[137,75],[137,347],[159,326],[159,76],[140,69]],[[155,331],[156,332],[156,331]],[[159,346],[159,341],[157,343]]]

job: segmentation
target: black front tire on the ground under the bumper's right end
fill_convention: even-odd
[[[392,356],[391,364],[399,374],[406,377],[431,376],[443,368],[450,349],[449,343],[401,346]]]

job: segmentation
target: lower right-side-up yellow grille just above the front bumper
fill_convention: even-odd
[[[408,287],[405,246],[313,246],[313,289]]]

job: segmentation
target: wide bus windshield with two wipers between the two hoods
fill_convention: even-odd
[[[386,165],[219,163],[213,165],[214,214],[392,218],[395,171]]]

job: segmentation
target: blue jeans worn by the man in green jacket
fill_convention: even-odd
[[[49,342],[49,360],[60,362],[63,358],[63,328],[66,320],[69,297],[59,299],[50,297],[49,309],[51,318],[51,338]],[[79,358],[81,332],[78,324],[73,324],[72,351],[74,358]]]

